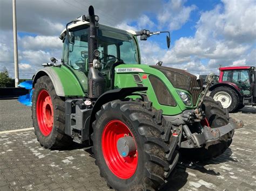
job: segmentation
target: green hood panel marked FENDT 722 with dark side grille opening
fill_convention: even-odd
[[[172,86],[171,82],[167,79],[167,77],[161,73],[159,70],[154,69],[148,65],[119,65],[116,67],[116,72],[114,75],[114,87],[115,88],[125,88],[125,87],[137,87],[138,82],[134,81],[133,74],[139,74],[144,87],[147,87],[148,90],[146,92],[147,97],[152,102],[153,107],[156,109],[162,109],[164,115],[178,115],[184,110],[193,109],[194,107],[186,106],[181,98],[179,97],[177,90]],[[143,79],[143,75],[147,75],[146,79]],[[158,103],[157,97],[154,94],[154,90],[151,86],[149,75],[154,75],[158,77],[166,86],[166,88],[172,94],[174,100],[176,101],[177,105],[175,107],[161,105]],[[183,90],[184,91],[184,90]],[[187,94],[191,95],[187,91]],[[193,104],[192,104],[193,105]]]

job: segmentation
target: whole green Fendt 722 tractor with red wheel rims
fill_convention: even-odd
[[[180,157],[206,160],[223,153],[242,122],[206,96],[208,86],[203,91],[197,76],[161,62],[140,64],[137,37],[162,32],[125,31],[98,21],[90,6],[88,16],[69,22],[59,36],[62,63],[51,58],[33,79],[39,143],[89,143],[100,175],[117,190],[159,189]]]

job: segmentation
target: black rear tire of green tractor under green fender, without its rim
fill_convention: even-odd
[[[53,126],[50,135],[44,136],[39,129],[36,114],[36,103],[39,92],[48,91],[53,105]],[[60,148],[71,143],[71,138],[65,135],[65,105],[64,101],[56,95],[49,76],[42,76],[35,83],[32,95],[32,120],[38,142],[45,148]]]

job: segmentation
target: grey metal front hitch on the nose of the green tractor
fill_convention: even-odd
[[[190,129],[187,125],[183,125],[183,130],[187,135],[187,140],[181,142],[181,148],[199,148],[204,144],[208,144],[211,142],[215,142],[219,140],[221,137],[227,135],[227,133],[231,132],[235,129],[240,129],[244,126],[244,123],[241,120],[235,120],[230,118],[230,122],[227,125],[220,126],[219,128],[210,128],[208,126],[204,126],[201,130],[200,134],[191,133]]]

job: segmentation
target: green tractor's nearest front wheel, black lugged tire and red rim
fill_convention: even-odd
[[[106,103],[93,122],[96,165],[116,190],[152,190],[165,183],[179,159],[178,137],[151,102]]]

